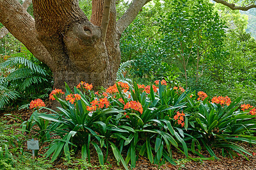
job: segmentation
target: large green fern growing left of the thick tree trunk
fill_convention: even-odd
[[[28,49],[13,54],[0,63],[0,109],[11,104],[26,104],[34,98],[44,98],[52,88],[52,73]],[[18,103],[17,103],[18,102]]]

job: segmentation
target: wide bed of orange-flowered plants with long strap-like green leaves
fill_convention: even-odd
[[[152,86],[134,83],[133,89],[117,82],[100,92],[92,91],[92,84],[85,82],[74,91],[65,86],[65,94],[55,89],[50,95],[60,102],[58,111],[33,113],[36,118],[49,121],[51,135],[60,137],[51,139],[46,153],[47,157],[52,155],[52,162],[62,153],[70,160],[73,149],[81,149],[82,158],[90,162],[90,146],[97,151],[100,164],[106,162],[111,148],[125,169],[129,162],[131,167],[136,166],[138,155],[154,164],[176,164],[173,148],[188,158],[189,151],[200,157],[192,160],[217,158],[214,148],[230,155],[252,155],[237,144],[256,143],[255,107],[242,107],[240,111],[241,98],[231,102],[228,97],[214,97],[209,102],[202,91],[196,97],[195,91],[170,87],[164,80],[155,81]],[[106,150],[105,156],[102,149]],[[203,149],[212,157],[205,158],[200,153]],[[124,151],[125,158],[121,155]]]

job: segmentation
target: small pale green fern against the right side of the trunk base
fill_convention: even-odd
[[[134,60],[129,60],[129,61],[125,61],[124,63],[121,63],[118,71],[116,73],[116,81],[117,82],[125,82],[127,83],[130,87],[132,86],[132,79],[129,79],[127,77],[125,77],[125,75],[127,74],[127,69],[130,68],[132,66],[132,64],[134,63]]]

